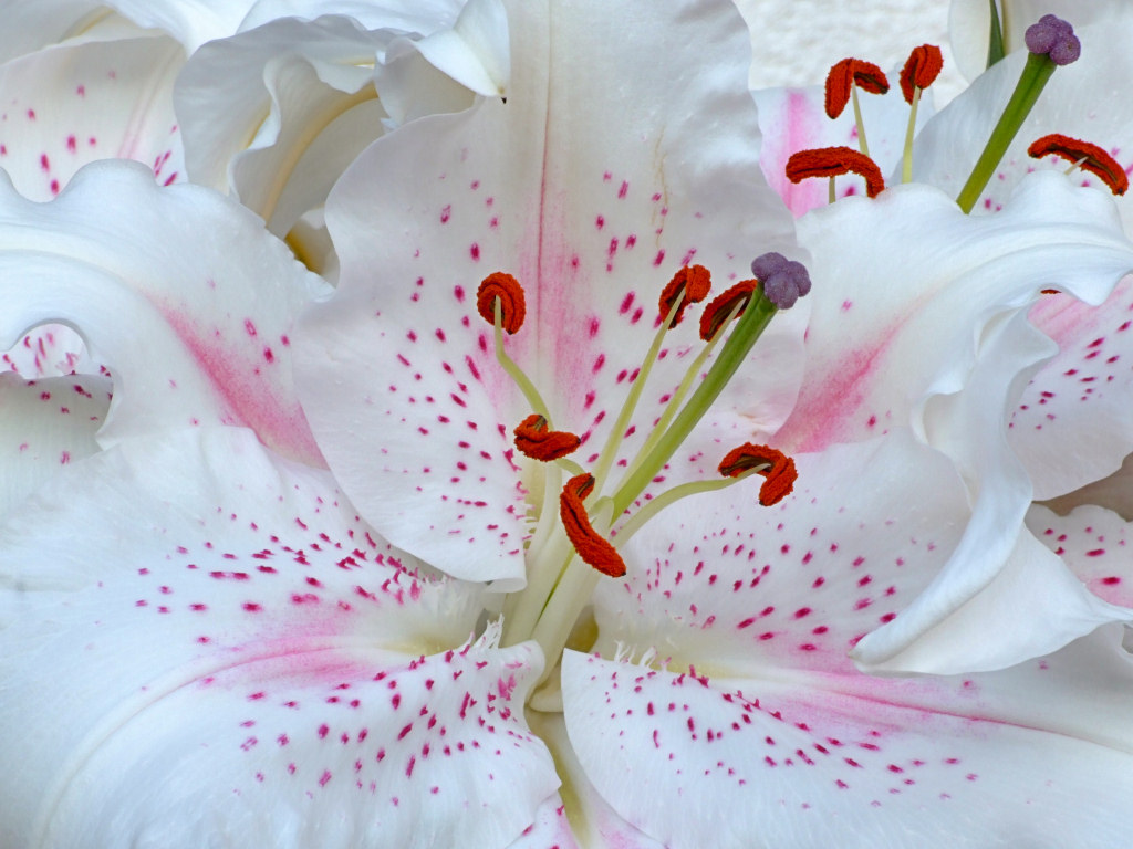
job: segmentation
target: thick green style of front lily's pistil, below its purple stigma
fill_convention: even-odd
[[[763,291],[757,291],[751,295],[747,309],[740,320],[735,323],[735,328],[727,342],[724,343],[724,348],[713,362],[712,368],[708,369],[705,379],[692,393],[692,397],[676,414],[668,430],[657,440],[649,454],[642,458],[638,470],[633,474],[627,475],[617,491],[614,492],[613,515],[620,516],[645,490],[649,481],[664,469],[665,463],[681,446],[692,428],[708,412],[713,402],[719,397],[729,380],[748,358],[756,340],[767,328],[777,311],[778,308],[767,299]],[[723,331],[721,332],[723,333]]]

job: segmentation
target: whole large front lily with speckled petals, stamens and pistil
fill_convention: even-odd
[[[595,51],[595,22],[612,14],[633,37]],[[332,192],[333,294],[282,263],[250,213],[199,187],[159,189],[101,163],[42,207],[8,189],[0,257],[25,284],[11,285],[25,292],[11,321],[66,317],[116,353],[127,430],[48,479],[0,532],[0,751],[31,764],[0,777],[0,820],[22,843],[82,844],[97,830],[111,847],[545,847],[572,833],[876,846],[943,831],[1108,846],[1127,832],[1130,669],[1114,628],[1028,667],[946,679],[878,681],[846,652],[908,618],[902,638],[940,637],[915,643],[917,659],[959,672],[1123,615],[1054,555],[1007,575],[1013,619],[960,602],[928,633],[939,617],[911,606],[940,575],[946,592],[930,598],[962,599],[949,561],[982,556],[982,568],[1015,542],[998,437],[1011,387],[1047,353],[1026,306],[1051,284],[1102,298],[1133,248],[1108,201],[1049,174],[998,216],[964,216],[915,185],[838,201],[800,223],[800,247],[759,178],[738,24],[725,2],[512,5],[508,103],[406,125]],[[633,72],[646,63],[657,72]],[[108,196],[121,206],[95,203]],[[78,239],[85,266],[45,250],[83,228],[116,238]],[[131,241],[116,259],[118,241],[147,232],[164,250]],[[809,251],[812,291],[780,250]],[[225,256],[236,268],[218,280]],[[146,285],[111,285],[116,261]],[[704,362],[690,317],[642,358],[680,292],[701,288],[701,261],[730,283],[750,269],[723,301],[743,316],[702,311],[719,336]],[[153,282],[163,274],[169,291]],[[276,275],[289,299],[323,295],[287,345],[298,389],[286,371],[275,385],[249,377],[266,362],[255,310],[272,333],[291,310],[250,281]],[[210,278],[221,294],[193,297]],[[142,297],[128,312],[86,289]],[[163,321],[142,309],[172,298]],[[128,355],[122,338],[143,321],[161,357]],[[171,391],[146,397],[202,338],[213,362],[231,346],[235,377],[263,402],[246,418],[206,408],[207,427],[186,427],[181,408],[163,409]],[[709,403],[699,387],[730,359],[746,369]],[[679,411],[656,445],[671,432],[683,445],[638,460],[684,372],[701,418]],[[297,422],[272,427],[295,394],[330,471],[296,453],[308,432]],[[140,411],[129,422],[128,409]],[[559,460],[582,471],[520,458],[517,426],[553,453],[577,430]],[[748,444],[764,435],[775,447]],[[759,489],[741,480],[650,516],[717,465],[760,474]],[[623,475],[628,496],[610,488]],[[973,521],[973,503],[994,509]],[[84,544],[62,528],[85,529]],[[590,543],[624,574],[571,564]]]

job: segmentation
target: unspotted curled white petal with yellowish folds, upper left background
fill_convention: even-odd
[[[384,131],[373,65],[393,37],[323,17],[274,20],[202,48],[176,92],[194,181],[231,188],[286,235]]]

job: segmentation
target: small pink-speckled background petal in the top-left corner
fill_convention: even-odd
[[[153,33],[45,48],[0,67],[0,168],[50,200],[99,158],[137,160],[161,183],[185,179],[173,115],[179,44]]]

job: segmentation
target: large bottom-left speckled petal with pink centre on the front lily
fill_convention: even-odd
[[[522,718],[542,657],[466,642],[477,588],[247,430],[82,471],[2,531],[14,846],[504,847],[534,822],[559,783]]]

